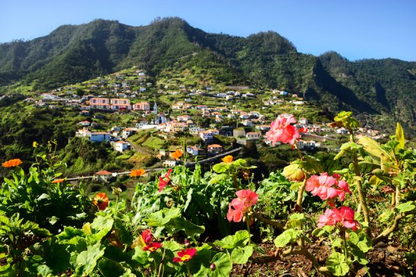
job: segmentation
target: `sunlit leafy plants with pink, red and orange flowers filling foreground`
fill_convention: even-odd
[[[291,255],[304,255],[324,276],[367,269],[374,244],[415,227],[416,153],[406,149],[399,124],[379,145],[367,137],[354,141],[358,121],[351,113],[335,120],[350,133],[335,159],[349,156],[352,163],[333,175],[298,151],[300,159],[282,173],[254,184],[252,167],[228,156],[203,175],[198,165],[177,166],[143,183],[145,171],[134,170],[138,184],[129,203],[119,188],[114,201],[104,193],[88,199],[81,186],[58,179],[62,164],[52,144],[28,172],[19,159],[6,161],[3,167],[13,169],[0,194],[0,273],[229,276],[233,265]],[[268,137],[297,148],[300,130],[292,121],[277,118]],[[385,202],[369,202],[374,196]],[[274,242],[272,254],[254,243],[261,240]],[[324,263],[311,251],[318,240],[330,253]],[[404,257],[408,265],[412,256]]]

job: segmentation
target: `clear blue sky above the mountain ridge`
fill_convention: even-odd
[[[274,30],[302,53],[337,51],[349,60],[416,61],[415,0],[1,0],[0,42],[48,35],[62,24],[116,19],[132,26],[177,16],[209,33]]]

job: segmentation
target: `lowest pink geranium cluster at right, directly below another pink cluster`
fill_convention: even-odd
[[[318,219],[318,227],[332,226],[337,223],[343,224],[345,228],[352,229],[352,231],[356,231],[358,221],[354,220],[354,210],[346,206],[341,206],[339,210],[338,208],[333,208],[332,210],[327,208],[327,211],[320,215]]]

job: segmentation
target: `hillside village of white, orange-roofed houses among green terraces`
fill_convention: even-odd
[[[211,83],[197,87],[187,85],[181,77],[152,80],[146,71],[133,67],[80,84],[39,92],[26,101],[40,109],[76,109],[85,119],[74,126],[75,136],[94,143],[108,142],[116,152],[153,152],[164,166],[175,166],[177,161],[169,159],[169,152],[182,147],[166,144],[170,137],[194,138],[195,144],[186,145],[190,160],[196,156],[212,157],[248,142],[270,145],[266,132],[277,116],[289,118],[293,114],[297,119],[296,127],[309,129],[299,142],[302,150],[330,150],[329,142],[347,133],[344,128],[329,127],[327,118],[317,122],[317,118],[321,119],[316,116],[319,110],[293,91]],[[123,125],[105,126],[103,120],[111,114],[121,118],[128,116],[128,120]],[[356,131],[357,136],[365,134],[374,139],[385,136],[369,127]],[[141,145],[134,145],[129,138],[141,132],[150,132],[150,138]],[[226,137],[230,139],[222,139]]]

